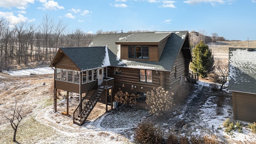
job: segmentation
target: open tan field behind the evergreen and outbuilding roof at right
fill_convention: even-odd
[[[217,41],[207,45],[212,50],[214,59],[228,62],[228,48],[248,48],[248,41]],[[249,40],[249,48],[256,48],[256,40]]]

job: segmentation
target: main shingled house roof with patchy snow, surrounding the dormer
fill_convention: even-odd
[[[107,46],[110,66],[170,71],[187,35],[188,31],[98,34],[90,46]],[[120,59],[120,45],[116,42],[160,42],[167,36],[159,62]]]

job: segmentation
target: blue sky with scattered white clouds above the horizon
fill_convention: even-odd
[[[0,0],[0,18],[42,23],[47,14],[69,31],[195,30],[256,40],[256,0]]]

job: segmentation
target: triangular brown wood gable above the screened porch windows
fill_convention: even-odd
[[[63,68],[68,70],[77,70],[80,71],[79,68],[68,58],[67,56],[63,55],[58,63],[55,65],[55,68]]]

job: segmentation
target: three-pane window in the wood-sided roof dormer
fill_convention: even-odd
[[[129,46],[128,58],[148,59],[148,46]]]

